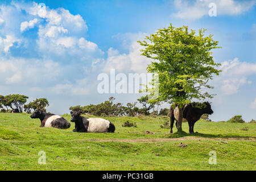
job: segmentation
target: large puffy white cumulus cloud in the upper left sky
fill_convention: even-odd
[[[35,2],[0,5],[0,23],[0,54],[11,55],[10,47],[15,45],[15,49],[41,55],[44,59],[78,60],[91,65],[104,53],[97,44],[85,39],[88,27],[82,16],[61,7],[50,9]],[[23,34],[35,26],[38,37]]]

